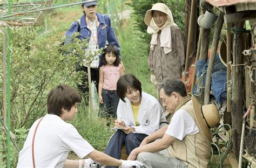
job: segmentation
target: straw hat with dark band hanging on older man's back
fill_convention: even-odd
[[[193,111],[197,123],[204,136],[211,142],[211,130],[220,122],[219,111],[214,104],[201,106],[197,98],[192,96]]]

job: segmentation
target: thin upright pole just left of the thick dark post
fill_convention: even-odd
[[[231,24],[227,24],[227,112],[231,112],[231,103],[230,103],[230,81],[231,81],[231,68],[230,64],[231,61]]]

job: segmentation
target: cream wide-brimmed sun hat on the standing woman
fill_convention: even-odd
[[[151,19],[152,19],[152,11],[154,11],[154,10],[157,10],[157,11],[160,11],[160,12],[164,12],[171,19],[171,23],[173,23],[172,12],[168,8],[168,6],[163,4],[163,3],[156,3],[156,4],[154,4],[152,6],[152,9],[147,10],[147,12],[146,12],[146,16],[144,18],[144,22],[145,22],[145,24],[147,26],[151,26],[150,22],[151,22]]]

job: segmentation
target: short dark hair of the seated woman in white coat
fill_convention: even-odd
[[[123,101],[127,88],[138,89],[140,96],[142,96],[142,83],[132,74],[125,74],[121,76],[117,81],[117,95]]]

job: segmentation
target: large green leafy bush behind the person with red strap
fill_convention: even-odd
[[[36,118],[46,113],[51,88],[61,83],[76,87],[80,82],[82,73],[76,72],[76,67],[85,59],[87,41],[73,38],[73,43],[60,45],[62,37],[40,34],[39,29],[31,27],[15,29],[11,39],[11,125],[30,128]],[[2,72],[0,76],[2,83]]]

